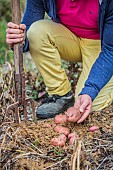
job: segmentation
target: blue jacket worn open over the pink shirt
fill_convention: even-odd
[[[80,93],[88,94],[92,100],[113,75],[113,0],[99,0],[99,3],[99,30],[102,51]],[[33,22],[44,19],[45,12],[52,20],[58,21],[55,0],[27,0],[22,23],[26,24],[28,30]],[[24,51],[27,50],[28,40],[26,38]]]

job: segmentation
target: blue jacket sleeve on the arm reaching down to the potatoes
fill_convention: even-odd
[[[102,51],[92,66],[81,94],[88,94],[92,100],[113,76],[113,1],[108,6],[102,36]]]

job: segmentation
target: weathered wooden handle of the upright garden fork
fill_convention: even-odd
[[[13,23],[20,25],[21,22],[21,9],[20,9],[20,0],[11,0],[12,4],[12,21]],[[14,81],[15,81],[15,101],[19,102],[19,105],[22,104],[22,100],[25,100],[25,95],[23,95],[23,44],[16,43],[14,44]],[[24,96],[24,99],[23,99]]]

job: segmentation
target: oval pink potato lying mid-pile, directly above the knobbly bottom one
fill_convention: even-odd
[[[69,130],[69,128],[66,128],[66,127],[63,127],[63,126],[56,126],[55,128],[54,128],[54,130],[55,130],[55,132],[58,132],[58,133],[60,133],[60,134],[64,134],[64,135],[68,135],[69,134],[69,132],[70,132],[70,130]]]

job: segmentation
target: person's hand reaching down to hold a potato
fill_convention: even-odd
[[[83,94],[80,95],[75,102],[74,106],[80,105],[80,112],[82,114],[81,118],[77,121],[77,123],[83,122],[88,115],[92,112],[92,99],[89,95]]]

